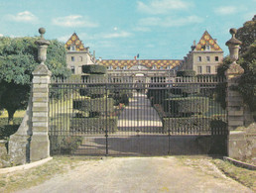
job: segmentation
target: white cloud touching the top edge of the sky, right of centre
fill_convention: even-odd
[[[138,11],[148,14],[167,14],[172,10],[184,10],[192,4],[182,0],[152,0],[149,4],[139,1]]]

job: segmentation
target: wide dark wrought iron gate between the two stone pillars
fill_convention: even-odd
[[[226,113],[216,100],[223,80],[213,76],[146,80],[131,76],[53,80],[52,146],[61,148],[61,143],[72,145],[79,139],[75,154],[226,153]]]

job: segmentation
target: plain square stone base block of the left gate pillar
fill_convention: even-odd
[[[30,161],[38,161],[50,157],[49,136],[33,135],[30,144]]]

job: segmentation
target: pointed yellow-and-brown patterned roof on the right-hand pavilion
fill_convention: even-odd
[[[194,50],[205,50],[206,46],[210,46],[209,50],[211,51],[222,51],[222,49],[217,45],[216,41],[211,38],[207,31],[203,33]]]

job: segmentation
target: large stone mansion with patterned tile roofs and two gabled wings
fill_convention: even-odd
[[[192,69],[196,74],[215,74],[216,67],[223,59],[223,51],[205,31],[192,50],[180,59],[95,59],[95,51],[90,53],[78,36],[73,33],[65,43],[66,63],[73,74],[82,74],[81,66],[85,64],[100,64],[108,69],[110,74],[126,74],[133,77],[170,77],[175,76],[178,69]],[[148,82],[148,80],[146,81]]]

